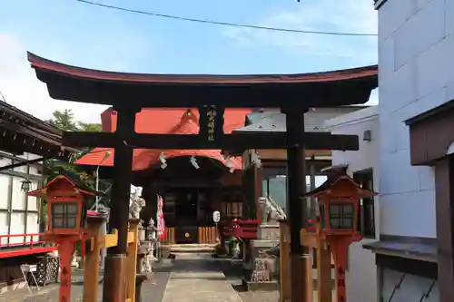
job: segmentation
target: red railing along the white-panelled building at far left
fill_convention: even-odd
[[[0,258],[40,254],[56,250],[56,247],[43,246],[45,241],[40,239],[42,235],[44,234],[0,235]],[[37,239],[35,239],[36,237]],[[11,239],[15,238],[22,238],[23,240],[11,242]]]

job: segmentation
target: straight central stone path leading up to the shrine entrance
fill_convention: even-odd
[[[219,265],[208,257],[178,254],[162,302],[242,302]]]

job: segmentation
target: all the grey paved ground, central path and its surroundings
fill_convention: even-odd
[[[231,261],[213,259],[209,254],[177,254],[171,263],[153,263],[153,282],[146,281],[142,287],[143,302],[278,302],[278,291],[242,292],[238,288],[240,267],[232,267]],[[222,265],[224,264],[224,265]],[[225,264],[227,264],[225,266]],[[226,268],[224,268],[226,267]],[[223,273],[222,273],[223,271]],[[225,274],[228,277],[225,277]],[[77,275],[74,273],[74,275]],[[232,275],[232,276],[230,276]],[[234,289],[236,288],[236,290]],[[82,302],[83,283],[74,276],[72,302]],[[100,285],[100,294],[103,292]],[[101,296],[101,295],[100,295]],[[98,301],[101,301],[99,297]],[[43,287],[30,294],[18,290],[0,295],[0,302],[55,302],[58,301],[58,285]]]

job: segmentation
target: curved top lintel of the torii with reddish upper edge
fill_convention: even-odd
[[[320,73],[156,74],[99,71],[30,53],[28,61],[52,98],[114,108],[334,107],[365,103],[378,87],[377,65]]]

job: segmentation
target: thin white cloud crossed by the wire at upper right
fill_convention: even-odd
[[[291,11],[274,9],[259,21],[262,26],[344,33],[377,33],[377,12],[371,1],[302,1]],[[223,34],[243,45],[271,44],[299,54],[356,58],[358,64],[377,62],[377,38],[282,33],[229,28]]]

